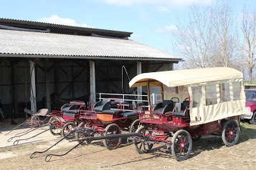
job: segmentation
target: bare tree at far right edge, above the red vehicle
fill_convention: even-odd
[[[242,36],[240,43],[242,57],[245,59],[246,68],[249,74],[249,82],[252,84],[252,71],[255,67],[256,52],[256,12],[248,12],[244,8],[242,12]]]

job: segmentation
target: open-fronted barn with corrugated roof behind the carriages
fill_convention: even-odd
[[[24,108],[60,109],[62,101],[74,99],[93,102],[98,93],[131,94],[129,78],[148,71],[172,70],[182,61],[129,39],[131,34],[0,19],[4,116],[17,116]]]

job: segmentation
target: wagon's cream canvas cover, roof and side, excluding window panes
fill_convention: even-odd
[[[241,82],[240,99],[233,99],[230,92],[230,101],[220,102],[219,84],[230,84],[232,91],[233,82]],[[139,74],[134,77],[129,85],[136,86],[189,86],[190,103],[190,125],[206,124],[211,121],[225,119],[231,116],[239,116],[243,113],[245,107],[245,91],[243,87],[243,74],[236,69],[227,67],[207,68],[207,69],[188,69],[176,71],[159,71],[153,73]],[[217,104],[207,106],[205,100],[205,86],[207,84],[216,84]],[[198,107],[193,107],[192,86],[202,86],[202,101]],[[194,96],[195,98],[195,96]]]

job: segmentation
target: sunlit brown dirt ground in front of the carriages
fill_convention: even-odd
[[[242,124],[239,144],[227,147],[221,136],[204,136],[193,143],[193,151],[186,161],[176,161],[163,146],[154,146],[149,154],[138,154],[132,144],[123,143],[118,149],[107,150],[101,141],[79,146],[65,156],[53,156],[45,162],[47,154],[62,154],[77,142],[63,141],[45,154],[29,156],[43,151],[58,139],[0,148],[0,169],[255,169],[256,126]],[[0,139],[3,134],[0,134]],[[125,140],[124,140],[125,141]]]

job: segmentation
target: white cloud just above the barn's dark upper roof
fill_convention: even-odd
[[[41,19],[37,19],[39,22],[46,22],[46,23],[52,23],[52,24],[62,24],[62,25],[68,25],[68,26],[82,26],[82,27],[89,27],[93,28],[93,26],[89,26],[87,24],[78,24],[74,19],[64,19],[57,15],[52,15],[49,17],[43,17]]]

